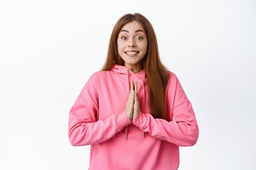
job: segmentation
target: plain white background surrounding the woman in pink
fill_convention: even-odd
[[[0,0],[0,169],[85,170],[68,115],[106,60],[117,20],[153,25],[193,105],[199,139],[179,170],[256,169],[256,1]]]

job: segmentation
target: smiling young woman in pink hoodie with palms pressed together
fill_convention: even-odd
[[[69,114],[72,146],[91,145],[89,170],[177,170],[179,146],[198,124],[177,76],[161,63],[153,26],[141,14],[115,24],[101,71]]]

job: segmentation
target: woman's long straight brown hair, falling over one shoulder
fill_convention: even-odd
[[[170,72],[160,60],[153,26],[143,15],[140,13],[128,13],[117,21],[110,37],[106,62],[101,71],[110,70],[114,64],[124,66],[124,60],[118,53],[117,38],[123,26],[134,20],[141,24],[148,38],[147,52],[141,60],[141,64],[147,77],[150,114],[154,118],[164,119],[166,111],[165,93]]]

